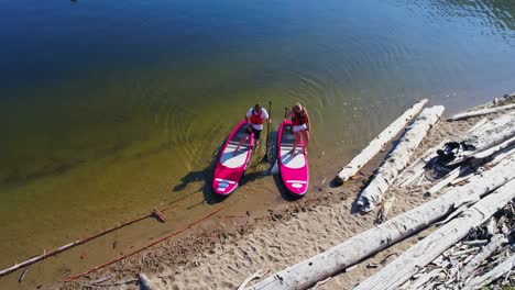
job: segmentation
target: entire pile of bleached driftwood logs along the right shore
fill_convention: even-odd
[[[418,102],[383,131],[336,180],[344,182],[355,175],[402,132],[399,124],[408,123],[425,103],[426,100]],[[462,120],[505,111],[493,120],[481,120],[458,138],[442,141],[408,164],[443,112],[440,105],[424,109],[386,156],[355,205],[366,213],[382,204],[390,188],[421,185],[431,200],[386,220],[387,207],[395,198],[391,197],[380,210],[379,225],[249,289],[306,289],[430,226],[437,230],[357,289],[476,289],[492,281],[502,283],[498,279],[509,282],[515,261],[509,250],[515,233],[515,105],[506,103],[509,102],[450,118]]]

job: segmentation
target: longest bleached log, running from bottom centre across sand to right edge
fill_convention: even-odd
[[[515,157],[474,176],[463,187],[374,226],[315,257],[276,272],[249,289],[306,289],[427,227],[464,202],[478,200],[515,177]]]

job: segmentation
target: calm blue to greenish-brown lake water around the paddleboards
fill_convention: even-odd
[[[450,113],[515,90],[512,1],[0,5],[0,268],[210,201],[218,146],[255,102],[272,101],[272,130],[307,107],[315,186],[423,97]],[[254,199],[228,205],[282,202],[254,159],[234,192]],[[178,222],[195,215],[183,205]]]

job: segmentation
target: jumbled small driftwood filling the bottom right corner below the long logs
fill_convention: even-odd
[[[401,289],[463,289],[497,279],[500,286],[515,285],[511,268],[515,243],[515,203],[508,202],[481,226],[429,263]],[[512,257],[512,258],[509,258]]]

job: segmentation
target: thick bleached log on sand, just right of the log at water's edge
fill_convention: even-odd
[[[409,157],[432,125],[438,122],[443,113],[443,109],[442,105],[424,109],[417,120],[407,129],[398,145],[386,157],[372,181],[370,181],[369,186],[358,198],[357,205],[360,211],[369,212],[381,203],[384,192],[393,183],[398,172],[406,167]]]

